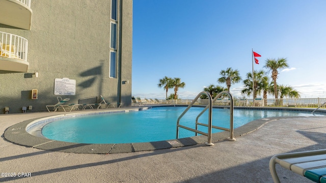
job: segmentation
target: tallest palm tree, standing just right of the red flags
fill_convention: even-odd
[[[264,68],[267,68],[267,69],[269,69],[269,71],[271,71],[271,78],[274,81],[275,99],[278,99],[277,83],[276,83],[276,80],[277,80],[278,74],[279,74],[278,70],[289,68],[289,65],[287,64],[287,60],[286,60],[286,58],[278,58],[277,60],[276,59],[267,59]]]

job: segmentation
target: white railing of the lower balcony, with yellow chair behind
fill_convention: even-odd
[[[28,40],[0,32],[0,56],[22,59],[27,62]]]

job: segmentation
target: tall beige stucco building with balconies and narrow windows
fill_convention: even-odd
[[[0,42],[0,113],[57,97],[131,105],[132,0],[0,0]]]

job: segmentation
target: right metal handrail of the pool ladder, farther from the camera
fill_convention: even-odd
[[[230,137],[228,138],[228,140],[234,141],[235,138],[233,137],[233,97],[232,97],[232,95],[229,92],[221,92],[213,99],[212,103],[214,103],[223,94],[227,94],[230,98],[230,129],[223,128],[223,127],[217,127],[217,126],[213,126],[213,125],[211,126],[211,128],[229,131]],[[205,109],[200,114],[198,114],[198,116],[196,118],[196,130],[198,129],[198,125],[208,127],[208,125],[206,125],[206,124],[198,123],[198,118],[207,110],[207,108],[208,108],[208,106],[206,106]],[[196,136],[197,136],[197,133],[196,133]]]

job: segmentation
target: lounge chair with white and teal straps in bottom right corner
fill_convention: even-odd
[[[279,154],[269,161],[274,182],[280,182],[275,165],[291,170],[315,182],[326,182],[326,149]]]

